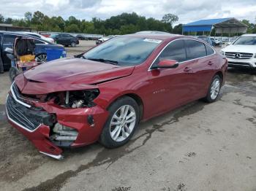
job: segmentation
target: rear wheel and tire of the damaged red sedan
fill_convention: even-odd
[[[219,77],[219,75],[215,75],[213,79],[211,79],[211,84],[208,87],[208,92],[204,100],[208,103],[216,101],[219,96],[221,85],[222,79]]]

